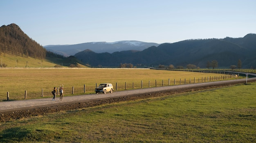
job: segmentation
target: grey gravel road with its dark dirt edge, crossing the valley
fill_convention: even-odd
[[[255,82],[256,78],[248,78],[247,82]],[[90,94],[64,97],[63,101],[52,101],[52,98],[16,100],[0,102],[0,121],[26,118],[43,115],[56,111],[73,110],[100,104],[136,100],[142,98],[171,95],[175,93],[225,87],[239,83],[245,83],[246,79],[225,80],[215,82],[203,82],[186,85],[174,85],[166,87],[151,87],[127,91],[114,91],[112,94]]]

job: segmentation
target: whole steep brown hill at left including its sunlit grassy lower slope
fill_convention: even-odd
[[[71,64],[85,67],[74,56],[64,58],[63,55],[47,51],[16,24],[0,27],[0,56],[0,67],[53,67]]]

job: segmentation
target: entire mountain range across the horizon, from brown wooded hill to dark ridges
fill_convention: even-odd
[[[243,69],[255,69],[256,34],[250,33],[241,38],[191,39],[162,44],[117,41],[43,47],[29,38],[18,25],[10,24],[0,27],[0,54],[6,52],[22,57],[58,59],[58,63],[88,64],[91,67],[119,67],[127,63],[137,67],[174,65],[186,68],[186,65],[192,64],[205,68],[208,61],[216,60],[219,68],[229,68],[240,60]]]

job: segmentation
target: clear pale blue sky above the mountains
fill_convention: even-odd
[[[256,33],[256,0],[1,0],[0,13],[43,46]]]

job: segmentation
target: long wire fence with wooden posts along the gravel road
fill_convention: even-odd
[[[223,73],[222,73],[223,74]],[[161,87],[161,86],[172,86],[172,85],[184,85],[184,84],[193,84],[193,83],[202,83],[202,82],[213,82],[217,80],[228,80],[231,78],[239,77],[239,74],[228,73],[218,74],[216,76],[208,76],[201,78],[179,78],[179,79],[164,79],[164,80],[137,80],[134,82],[115,82],[112,83],[114,91],[123,91],[123,90],[131,90],[131,89],[141,89],[141,88],[151,88],[151,87]],[[95,83],[94,86],[90,85],[81,85],[79,87],[63,87],[64,95],[85,95],[85,94],[94,94],[95,88],[98,86],[98,83]],[[63,85],[62,85],[63,86]],[[29,92],[27,90],[24,91],[23,99],[33,99],[33,98],[44,98],[44,97],[52,97],[52,90],[50,89],[41,89],[36,92]],[[22,94],[22,93],[21,93]],[[57,90],[56,95],[60,95],[59,88]],[[20,96],[18,98],[11,98],[11,92],[7,92],[7,101],[9,100],[20,100]],[[5,100],[3,100],[5,101]]]

